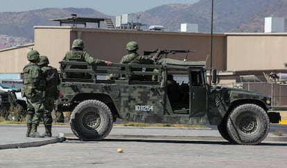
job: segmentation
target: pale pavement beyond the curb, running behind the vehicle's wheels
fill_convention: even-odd
[[[279,128],[272,127],[265,142],[286,142],[287,136],[275,136]],[[285,128],[283,128],[285,129]],[[38,147],[44,144],[77,140],[69,126],[53,126],[52,138],[26,138],[26,125],[0,125],[0,149]],[[38,131],[44,133],[40,125]],[[160,140],[207,140],[225,141],[214,127],[207,129],[167,128],[167,127],[113,127],[110,139],[160,139]]]

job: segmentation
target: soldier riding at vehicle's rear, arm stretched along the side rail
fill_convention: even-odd
[[[112,62],[101,60],[101,59],[94,59],[93,57],[89,56],[89,54],[83,51],[84,42],[82,39],[75,39],[72,44],[72,50],[69,50],[67,54],[64,56],[63,61],[78,61],[78,62],[87,62],[88,64],[95,64],[95,65],[105,65],[111,66]],[[62,67],[61,68],[65,68]],[[67,68],[86,68],[84,66],[71,66]],[[78,73],[69,73],[67,77],[81,77]]]

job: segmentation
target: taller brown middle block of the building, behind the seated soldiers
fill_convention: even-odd
[[[107,30],[100,28],[71,27],[35,27],[35,48],[40,54],[49,56],[51,66],[59,67],[58,62],[71,48],[73,39],[81,38],[85,43],[85,51],[92,57],[119,62],[128,41],[137,41],[139,54],[143,50],[173,49],[196,50],[189,53],[189,61],[202,61],[210,55],[210,35],[186,32],[153,32],[136,30]],[[177,55],[184,59],[184,54]],[[175,57],[175,55],[168,55]],[[225,35],[214,35],[213,66],[226,69]],[[208,64],[209,66],[209,64]]]

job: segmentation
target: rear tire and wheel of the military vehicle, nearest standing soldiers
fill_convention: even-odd
[[[112,129],[112,112],[101,101],[85,100],[72,111],[70,125],[80,140],[103,140]]]

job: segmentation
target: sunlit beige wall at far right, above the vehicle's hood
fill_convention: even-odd
[[[227,71],[286,69],[287,33],[227,35]]]

